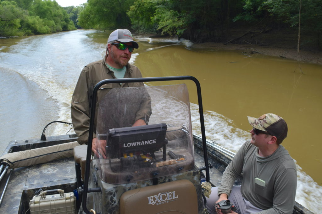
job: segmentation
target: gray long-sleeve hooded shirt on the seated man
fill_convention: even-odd
[[[297,175],[294,160],[281,145],[267,157],[246,141],[227,166],[218,195],[230,194],[235,179],[243,174],[241,192],[261,214],[292,213],[295,202]]]

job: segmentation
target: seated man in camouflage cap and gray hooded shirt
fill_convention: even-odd
[[[215,204],[229,199],[242,213],[292,213],[297,175],[294,160],[280,145],[287,136],[285,120],[275,114],[248,116],[251,140],[246,141],[225,169],[219,187],[207,199],[209,213],[221,210]],[[242,174],[241,186],[233,186]],[[232,211],[232,213],[236,213]]]

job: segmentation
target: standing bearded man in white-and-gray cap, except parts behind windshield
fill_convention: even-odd
[[[128,63],[134,48],[138,44],[133,40],[129,30],[114,30],[110,35],[106,46],[106,56],[99,61],[86,65],[81,71],[71,100],[71,119],[74,131],[80,144],[87,143],[90,124],[90,102],[95,85],[105,79],[113,78],[138,78],[142,77],[140,70]],[[97,155],[96,122],[99,102],[111,89],[123,87],[143,87],[143,82],[111,83],[105,84],[97,95],[96,113],[94,121],[94,133],[92,151]],[[146,125],[151,115],[151,100],[147,95],[142,101],[141,109],[135,114],[133,126]],[[101,151],[104,154],[105,151]],[[103,155],[103,158],[106,158]]]

